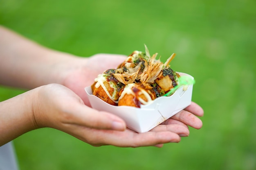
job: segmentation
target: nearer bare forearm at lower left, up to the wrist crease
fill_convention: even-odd
[[[0,146],[36,129],[33,101],[36,89],[0,102]]]

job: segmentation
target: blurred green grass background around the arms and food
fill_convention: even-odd
[[[21,170],[255,170],[255,0],[0,0],[0,24],[56,50],[173,52],[195,77],[203,127],[163,148],[93,147],[54,129],[14,140]],[[24,92],[0,87],[0,101]],[[15,107],[15,106],[14,106]]]

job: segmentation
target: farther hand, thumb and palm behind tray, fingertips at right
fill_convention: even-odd
[[[85,104],[90,106],[90,102],[84,92],[84,87],[92,85],[94,78],[104,70],[117,68],[125,59],[126,56],[117,54],[96,54],[89,58],[83,58],[78,62],[78,65],[80,65],[76,67],[78,69],[72,70],[71,74],[68,74],[65,78],[63,84],[76,92]],[[195,129],[200,129],[202,127],[202,121],[197,116],[203,116],[203,114],[203,109],[195,102],[191,102],[189,107],[175,114],[175,116],[166,120],[163,124],[179,124],[186,128],[188,128],[187,126],[191,126]],[[159,127],[157,128],[159,129]],[[189,131],[187,135],[189,135]],[[186,135],[183,134],[182,136]]]

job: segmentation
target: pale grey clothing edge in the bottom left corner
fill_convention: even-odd
[[[0,147],[0,170],[18,170],[16,153],[12,142]]]

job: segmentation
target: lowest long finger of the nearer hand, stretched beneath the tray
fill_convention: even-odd
[[[76,131],[77,132],[77,131]],[[97,130],[90,129],[81,131],[81,135],[86,133],[90,136],[85,142],[93,146],[113,145],[119,147],[141,147],[156,146],[170,142],[180,142],[180,136],[173,132],[146,132],[136,133],[130,129],[125,131]]]

